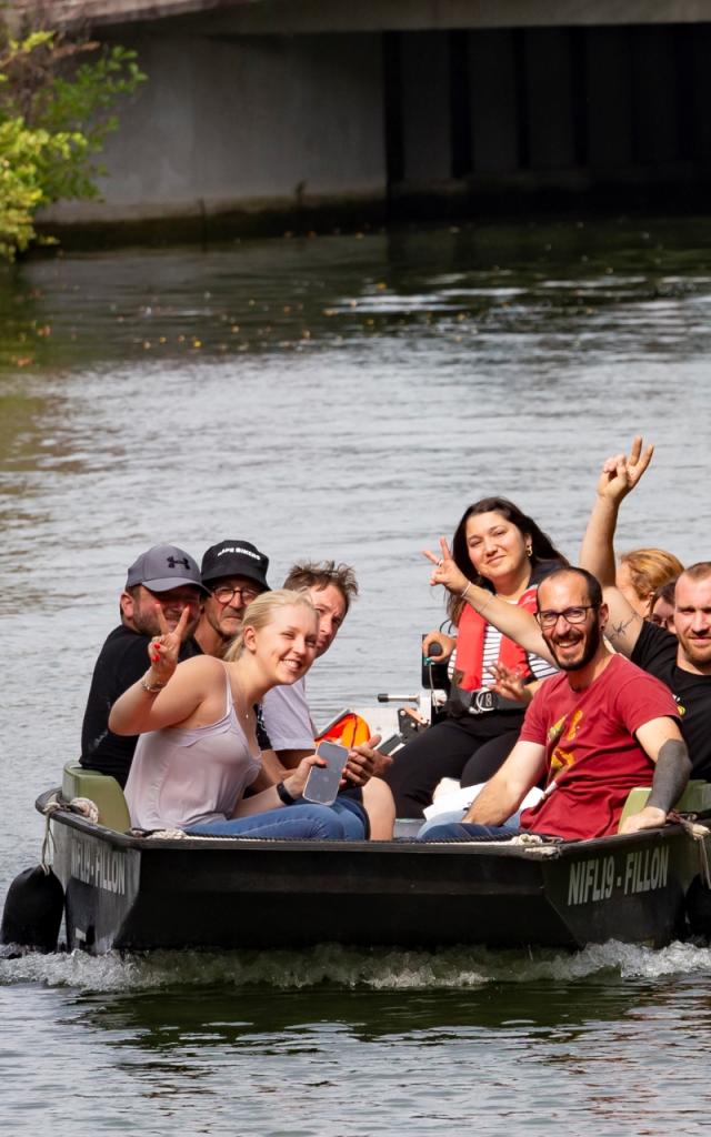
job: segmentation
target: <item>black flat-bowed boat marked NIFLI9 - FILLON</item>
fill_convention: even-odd
[[[640,808],[648,790],[633,791]],[[98,820],[76,812],[98,806]],[[711,814],[711,786],[679,807]],[[663,947],[708,888],[709,831],[687,821],[594,840],[288,841],[130,830],[118,783],[67,765],[41,795],[65,895],[66,946],[305,948],[322,943],[576,949],[609,939]],[[702,929],[703,930],[703,929]],[[708,930],[711,930],[708,929]]]

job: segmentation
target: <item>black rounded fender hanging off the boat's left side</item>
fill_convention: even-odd
[[[8,889],[0,927],[0,944],[17,944],[35,952],[57,951],[64,914],[64,888],[49,866],[25,869]]]

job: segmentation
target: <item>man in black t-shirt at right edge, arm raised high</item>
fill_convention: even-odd
[[[614,587],[618,512],[651,458],[652,447],[643,453],[642,439],[635,439],[628,457],[618,455],[604,463],[580,564],[604,588],[610,609],[605,634],[610,642],[671,689],[692,760],[692,777],[711,781],[711,562],[691,565],[676,582],[676,636],[643,620]]]

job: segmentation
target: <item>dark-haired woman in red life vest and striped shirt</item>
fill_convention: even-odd
[[[449,594],[447,614],[456,637],[430,632],[423,642],[449,659],[446,717],[398,750],[385,774],[398,818],[419,818],[443,778],[463,786],[487,781],[512,749],[535,684],[552,664],[519,647],[486,619],[494,596],[536,611],[536,586],[568,561],[532,517],[503,497],[466,509],[452,542],[441,539],[432,584]]]

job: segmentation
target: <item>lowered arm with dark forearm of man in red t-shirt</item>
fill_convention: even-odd
[[[686,789],[692,763],[679,728],[672,719],[652,719],[637,730],[637,741],[655,762],[652,792],[639,813],[628,818],[620,832],[663,825],[667,814]]]

